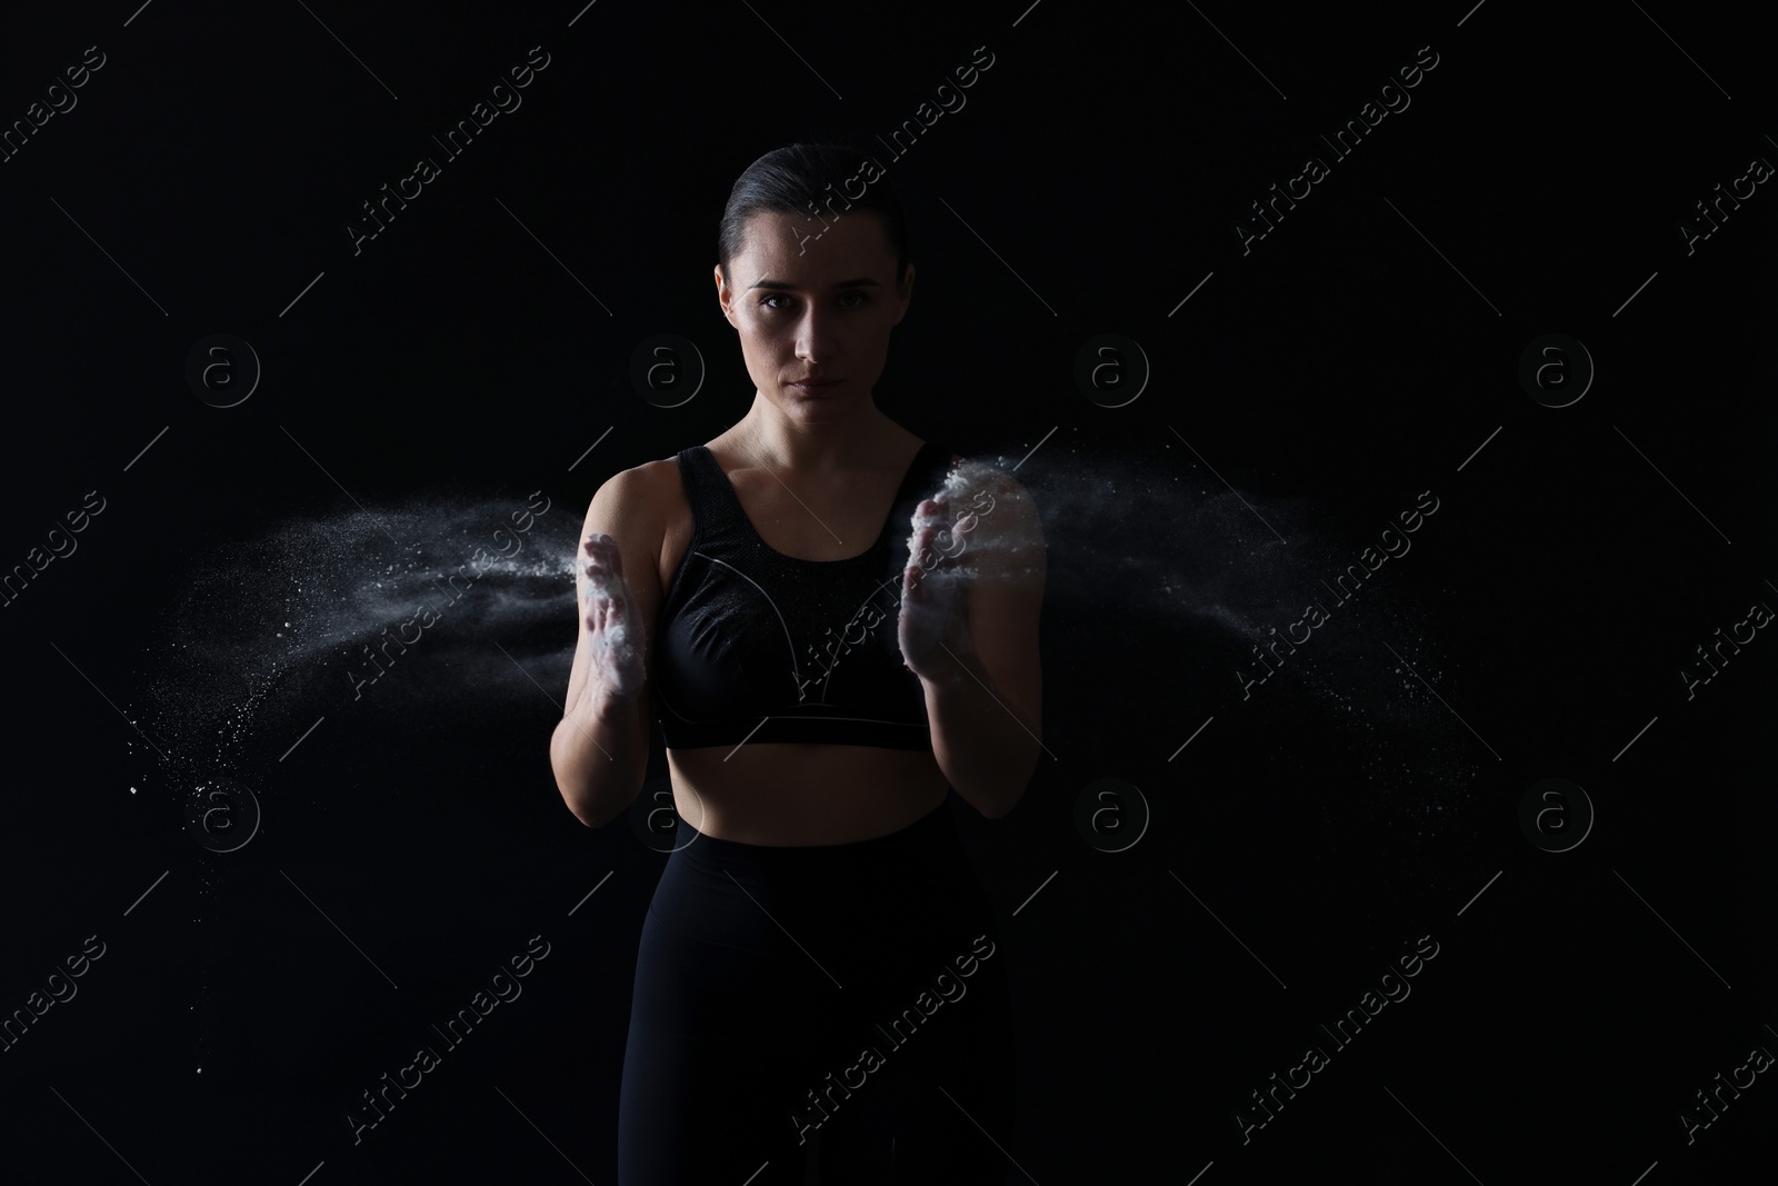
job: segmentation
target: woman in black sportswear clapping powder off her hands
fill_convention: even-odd
[[[999,818],[1037,765],[1042,533],[1010,475],[953,471],[873,400],[914,268],[885,178],[836,201],[862,162],[798,144],[734,183],[715,279],[752,407],[587,510],[557,782],[617,818],[660,713],[679,814],[621,1186],[1008,1166],[1005,955],[946,800]]]

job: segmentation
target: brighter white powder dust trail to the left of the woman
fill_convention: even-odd
[[[322,715],[542,701],[494,644],[516,660],[551,640],[573,654],[580,519],[542,498],[428,500],[295,517],[203,555],[148,654],[140,711],[165,738],[160,773],[192,805],[217,779],[258,791]]]

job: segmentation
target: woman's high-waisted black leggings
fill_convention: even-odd
[[[1006,953],[949,805],[852,845],[683,820],[677,845],[637,957],[619,1186],[1005,1182]]]

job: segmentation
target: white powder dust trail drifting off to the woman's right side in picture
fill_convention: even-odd
[[[1380,509],[1374,523],[1341,521],[1316,500],[1237,494],[1186,450],[1161,446],[1134,459],[1051,441],[1029,464],[994,459],[1001,469],[1019,464],[1013,477],[1042,519],[1053,637],[1061,649],[1117,656],[1070,677],[1101,679],[1109,690],[1134,676],[1150,686],[1131,692],[1156,701],[1154,688],[1168,688],[1161,697],[1209,704],[1216,715],[1266,713],[1289,686],[1300,688],[1325,709],[1323,731],[1355,741],[1373,811],[1406,816],[1422,837],[1456,825],[1456,807],[1494,756],[1438,699],[1462,697],[1414,592],[1431,580],[1419,549],[1442,546],[1447,525],[1437,510],[1405,533],[1394,516],[1415,509],[1417,491],[1403,487],[1399,507]],[[944,487],[958,509],[983,484],[980,471],[964,469]],[[994,546],[1017,555],[1029,544],[996,537],[994,526],[989,510],[960,558]],[[1394,542],[1385,546],[1389,528]],[[1360,560],[1367,548],[1374,569]],[[1342,574],[1346,583],[1335,587]],[[1285,637],[1310,603],[1323,606],[1325,621],[1305,642],[1291,640],[1294,653],[1280,645],[1278,670],[1243,699],[1236,672],[1268,674],[1252,647]]]

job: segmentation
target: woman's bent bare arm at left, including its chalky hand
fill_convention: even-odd
[[[637,677],[649,667],[660,613],[660,505],[642,468],[612,475],[592,496],[576,553],[578,644],[565,713],[549,738],[557,788],[587,827],[615,820],[647,775],[653,695]],[[589,537],[608,537],[594,541]],[[589,576],[589,565],[605,576]],[[603,585],[608,596],[592,596]],[[635,658],[608,644],[622,624]],[[628,667],[628,669],[626,669]],[[626,693],[624,681],[635,683]]]

